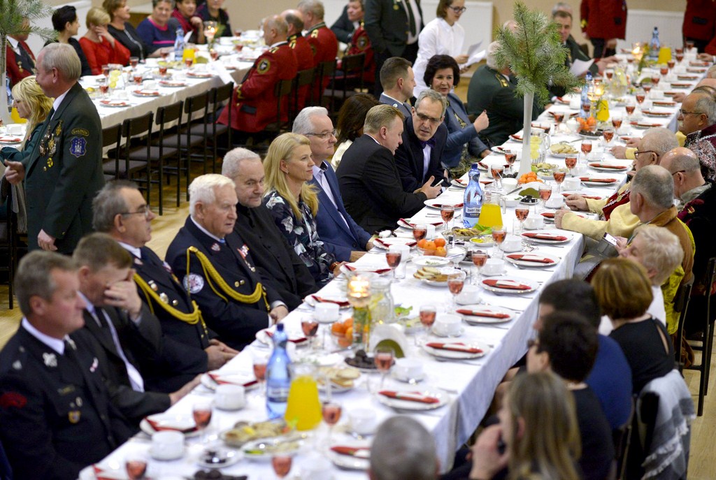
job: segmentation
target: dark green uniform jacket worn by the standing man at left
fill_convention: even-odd
[[[79,83],[52,113],[23,161],[28,248],[39,248],[37,235],[44,230],[56,238],[59,253],[72,253],[92,231],[92,199],[105,185],[102,124]]]

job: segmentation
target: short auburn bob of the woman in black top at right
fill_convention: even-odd
[[[654,300],[644,265],[626,258],[608,258],[591,280],[601,313],[611,320],[630,320],[646,313]]]

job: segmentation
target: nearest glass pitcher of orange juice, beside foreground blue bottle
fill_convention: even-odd
[[[304,431],[321,423],[321,402],[318,398],[316,366],[313,363],[291,363],[291,388],[286,405],[286,423]]]

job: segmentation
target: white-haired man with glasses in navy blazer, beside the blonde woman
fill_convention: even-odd
[[[294,120],[293,132],[305,135],[311,141],[314,160],[314,177],[311,185],[318,190],[319,208],[316,215],[318,235],[326,250],[341,262],[354,262],[372,248],[371,235],[353,221],[338,187],[333,167],[326,162],[333,155],[336,131],[328,110],[324,107],[306,107]]]

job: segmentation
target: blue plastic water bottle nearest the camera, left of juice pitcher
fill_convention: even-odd
[[[276,333],[274,333],[274,351],[266,365],[266,411],[271,419],[283,418],[286,413],[286,404],[289,401],[291,359],[286,352],[288,341],[289,337],[284,332],[284,324],[279,323],[276,325]]]

